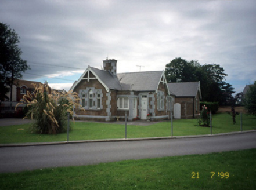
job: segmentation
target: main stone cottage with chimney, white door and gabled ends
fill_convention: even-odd
[[[168,88],[164,71],[117,74],[117,60],[103,61],[103,70],[88,67],[70,90],[77,92],[85,112],[78,119],[110,121],[168,119],[175,95]]]

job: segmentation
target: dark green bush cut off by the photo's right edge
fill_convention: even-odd
[[[249,87],[244,97],[244,105],[251,115],[256,115],[256,81]]]

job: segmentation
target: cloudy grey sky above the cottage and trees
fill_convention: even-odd
[[[0,0],[0,22],[20,36],[23,79],[56,89],[106,57],[118,73],[161,71],[175,57],[220,64],[236,92],[256,81],[255,0]]]

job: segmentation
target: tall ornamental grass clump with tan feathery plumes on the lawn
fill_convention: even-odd
[[[31,130],[39,134],[58,134],[66,131],[67,113],[73,117],[73,107],[81,108],[78,94],[71,91],[51,92],[47,84],[33,85],[34,93],[27,92],[16,105],[16,108],[20,104],[28,108],[25,118],[33,120]]]

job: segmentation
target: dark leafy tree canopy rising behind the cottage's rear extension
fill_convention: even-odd
[[[200,81],[202,101],[227,104],[228,99],[235,93],[234,88],[225,82],[224,69],[219,64],[201,65],[197,60],[186,61],[181,57],[175,58],[165,66],[165,77],[168,82]]]

